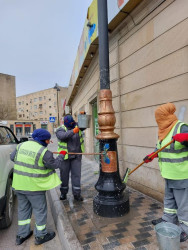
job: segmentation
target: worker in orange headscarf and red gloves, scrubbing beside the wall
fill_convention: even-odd
[[[159,106],[155,111],[158,124],[156,150],[173,138],[174,142],[145,163],[158,157],[162,177],[165,179],[164,212],[162,218],[152,220],[153,225],[161,222],[179,223],[180,242],[188,239],[188,125],[179,121],[174,114],[173,103]]]

